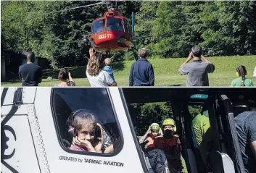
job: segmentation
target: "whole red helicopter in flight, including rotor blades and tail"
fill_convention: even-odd
[[[91,33],[85,36],[85,40],[88,39],[91,43],[91,47],[94,48],[94,51],[106,54],[107,57],[110,57],[111,53],[117,51],[128,51],[132,49],[135,59],[137,60],[136,44],[133,41],[139,38],[149,38],[151,36],[134,37],[133,12],[131,17],[132,25],[130,25],[128,19],[122,16],[122,12],[112,8],[114,4],[113,1],[100,1],[96,4],[89,4],[70,9],[78,9],[99,4],[107,4],[108,11],[104,13],[103,17],[99,17],[92,22]],[[115,1],[115,6],[117,7],[117,1]]]

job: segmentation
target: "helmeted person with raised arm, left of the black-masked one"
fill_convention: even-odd
[[[154,138],[160,135],[162,135],[160,125],[158,125],[157,123],[153,123],[149,126],[149,129],[146,131],[145,135],[141,137],[139,143],[144,143],[147,140],[149,142],[146,143],[145,147],[154,147]]]

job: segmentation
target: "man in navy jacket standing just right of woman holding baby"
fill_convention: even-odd
[[[129,86],[154,86],[154,69],[146,57],[146,48],[139,49],[139,59],[131,65]]]

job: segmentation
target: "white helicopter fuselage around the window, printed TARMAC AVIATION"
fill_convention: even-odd
[[[63,150],[51,111],[51,88],[23,88],[22,104],[10,114],[15,90],[8,88],[1,105],[1,132],[7,138],[1,145],[1,172],[144,172],[118,88],[108,90],[125,142],[113,156]]]

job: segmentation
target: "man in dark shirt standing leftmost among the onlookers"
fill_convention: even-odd
[[[22,86],[38,86],[38,83],[41,83],[42,80],[42,69],[38,65],[33,64],[35,54],[32,51],[28,52],[27,60],[28,62],[22,64],[19,68]]]

